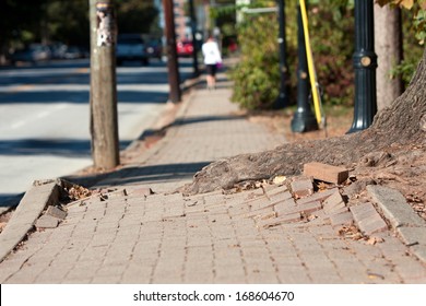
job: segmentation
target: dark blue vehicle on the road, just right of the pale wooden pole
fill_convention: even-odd
[[[149,64],[149,57],[145,51],[145,44],[140,34],[120,34],[117,37],[116,49],[117,64],[123,61],[139,60]]]

